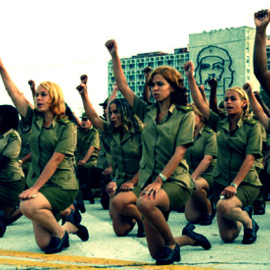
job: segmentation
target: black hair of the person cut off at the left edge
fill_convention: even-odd
[[[0,105],[0,117],[2,117],[2,131],[7,132],[10,129],[18,129],[19,114],[15,107],[11,105]]]

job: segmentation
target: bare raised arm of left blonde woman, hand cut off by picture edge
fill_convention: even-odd
[[[12,99],[12,102],[14,103],[15,107],[19,111],[19,113],[25,117],[28,104],[24,98],[24,95],[19,91],[17,86],[14,84],[14,82],[11,80],[6,68],[4,67],[4,64],[2,60],[0,59],[0,74],[3,80],[3,83],[5,85],[5,88],[9,94],[9,96]]]

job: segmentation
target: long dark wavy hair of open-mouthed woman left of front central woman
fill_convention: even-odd
[[[140,133],[143,128],[141,120],[134,114],[132,107],[125,98],[115,98],[109,104],[115,104],[123,121],[123,126],[126,132]]]

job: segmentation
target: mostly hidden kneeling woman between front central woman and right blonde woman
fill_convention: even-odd
[[[189,173],[195,182],[196,189],[185,205],[186,219],[201,225],[212,224],[214,211],[208,197],[212,195],[212,172],[217,156],[216,133],[204,124],[204,117],[194,104],[195,114],[194,145],[186,152]]]

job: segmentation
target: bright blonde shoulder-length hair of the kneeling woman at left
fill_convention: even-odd
[[[45,88],[51,97],[51,111],[57,119],[65,118],[66,105],[61,87],[53,82],[42,82],[38,88]]]

